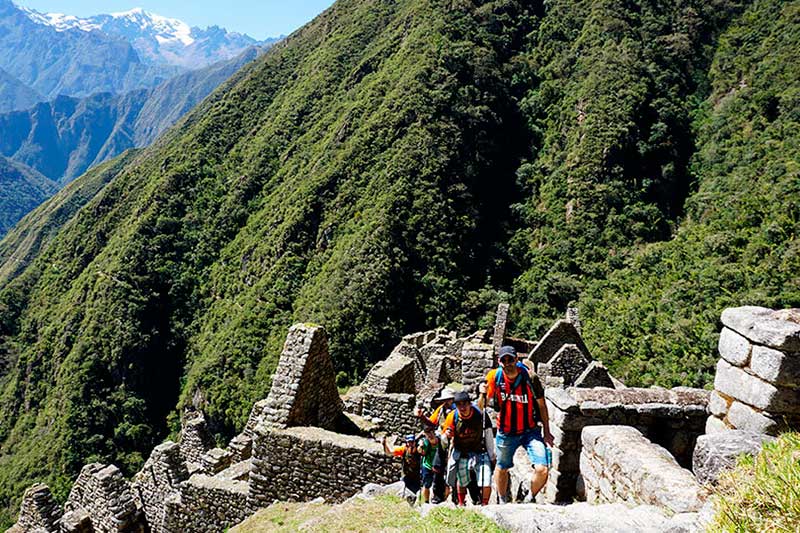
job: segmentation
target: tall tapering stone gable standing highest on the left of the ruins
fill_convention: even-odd
[[[295,324],[289,329],[272,378],[264,411],[265,422],[284,428],[316,426],[334,429],[343,409],[325,329]]]

